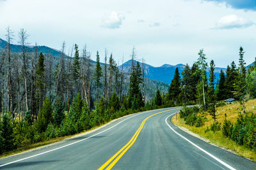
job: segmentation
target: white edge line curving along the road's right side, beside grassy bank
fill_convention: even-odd
[[[175,115],[176,113],[173,113],[172,115]],[[170,127],[170,129],[172,129],[173,132],[175,132],[177,135],[179,135],[181,138],[184,138],[186,141],[188,141],[189,143],[191,143],[191,145],[195,146],[196,148],[198,148],[199,150],[201,150],[202,152],[206,153],[207,155],[209,155],[210,157],[212,157],[213,159],[217,160],[218,162],[220,162],[220,164],[223,164],[223,166],[227,167],[228,169],[232,169],[234,170],[235,168],[228,165],[227,163],[223,162],[222,160],[218,159],[217,157],[215,157],[214,155],[212,155],[211,153],[207,152],[206,150],[200,148],[198,145],[195,145],[195,143],[189,141],[189,139],[185,138],[184,136],[182,136],[181,134],[179,134],[178,132],[176,132],[168,123],[167,123],[167,119],[169,117],[171,117],[172,115],[166,117],[165,119],[165,123],[168,125],[168,127]]]

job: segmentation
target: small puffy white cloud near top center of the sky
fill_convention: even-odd
[[[119,28],[124,19],[125,17],[121,13],[111,11],[110,15],[102,17],[102,27],[107,27],[109,29]]]

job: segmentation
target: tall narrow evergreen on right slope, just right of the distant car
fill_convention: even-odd
[[[246,67],[244,62],[244,50],[243,47],[240,46],[239,51],[239,67],[238,67],[238,76],[237,81],[235,85],[235,95],[239,99],[239,101],[242,101],[243,103],[243,112],[245,113],[245,106],[244,106],[244,96],[246,94]]]

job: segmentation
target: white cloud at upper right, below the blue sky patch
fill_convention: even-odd
[[[241,17],[237,17],[236,15],[227,15],[222,17],[218,24],[216,24],[216,29],[234,29],[234,28],[244,28],[255,25],[250,20],[246,20]]]

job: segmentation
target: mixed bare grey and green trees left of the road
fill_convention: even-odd
[[[76,134],[114,118],[153,108],[145,101],[145,76],[132,49],[129,80],[111,53],[104,64],[96,62],[78,45],[60,59],[28,50],[28,34],[19,32],[20,53],[11,50],[13,32],[7,29],[7,45],[0,52],[0,153],[26,148],[32,143]],[[73,55],[74,50],[74,55]],[[107,64],[107,61],[109,62]],[[55,64],[56,63],[56,64]],[[143,67],[143,64],[142,64]],[[129,81],[124,91],[124,81]],[[147,105],[147,106],[145,106]]]

